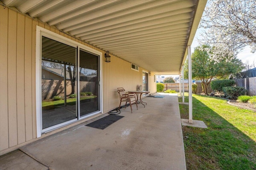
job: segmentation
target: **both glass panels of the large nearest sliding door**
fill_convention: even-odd
[[[41,56],[42,132],[100,111],[99,55],[42,36]]]

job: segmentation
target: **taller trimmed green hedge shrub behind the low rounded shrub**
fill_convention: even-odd
[[[230,87],[235,85],[235,80],[214,80],[211,82],[212,90],[218,92],[221,96],[223,96],[223,87]]]

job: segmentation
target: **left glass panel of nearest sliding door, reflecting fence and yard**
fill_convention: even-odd
[[[77,119],[76,48],[42,36],[42,129]]]

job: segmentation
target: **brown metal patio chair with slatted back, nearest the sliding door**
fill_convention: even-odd
[[[121,107],[121,103],[122,102],[126,102],[125,104],[125,108],[126,108],[126,105],[127,105],[127,102],[129,102],[130,104],[130,108],[131,108],[131,112],[132,112],[132,104],[136,104],[136,107],[137,107],[137,110],[138,110],[138,105],[137,105],[137,100],[136,100],[136,97],[135,97],[135,94],[134,93],[128,93],[124,90],[124,88],[117,88],[117,92],[120,96],[120,105],[119,105],[119,109]]]

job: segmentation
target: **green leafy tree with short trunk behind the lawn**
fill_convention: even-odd
[[[205,89],[204,93],[208,94],[207,87],[212,78],[227,78],[230,74],[240,72],[243,68],[243,63],[236,58],[231,60],[222,59],[219,62],[215,62],[210,60],[210,55],[206,49],[211,49],[211,47],[208,45],[196,47],[191,60],[192,78],[201,80]],[[184,77],[188,78],[188,60],[184,64]]]

